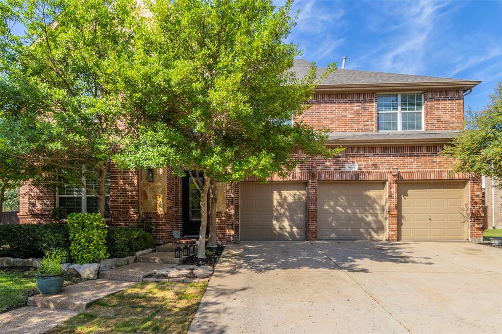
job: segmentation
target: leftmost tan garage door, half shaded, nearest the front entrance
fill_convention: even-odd
[[[307,184],[240,184],[242,240],[306,240]]]

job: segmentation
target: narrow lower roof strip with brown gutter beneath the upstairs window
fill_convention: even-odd
[[[328,145],[448,143],[460,133],[449,131],[331,132]]]

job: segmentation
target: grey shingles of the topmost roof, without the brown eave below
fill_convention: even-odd
[[[297,78],[301,79],[310,71],[311,63],[305,59],[295,59],[294,65],[291,68],[295,72]],[[317,75],[321,76],[327,71],[325,67],[317,68]],[[427,77],[421,75],[395,74],[383,72],[370,72],[358,70],[342,70],[338,69],[335,73],[329,73],[322,79],[322,85],[368,85],[368,84],[419,84],[419,83],[458,83],[469,85],[473,83],[470,80]],[[479,83],[479,82],[477,82]],[[476,84],[477,84],[476,83]],[[474,84],[475,85],[475,84]]]

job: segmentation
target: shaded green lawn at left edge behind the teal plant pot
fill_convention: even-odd
[[[0,313],[25,306],[28,297],[38,294],[33,267],[0,269]],[[64,285],[83,282],[80,276],[65,275]]]

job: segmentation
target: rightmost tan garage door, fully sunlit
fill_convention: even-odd
[[[465,182],[398,183],[399,239],[466,239],[466,192]]]

